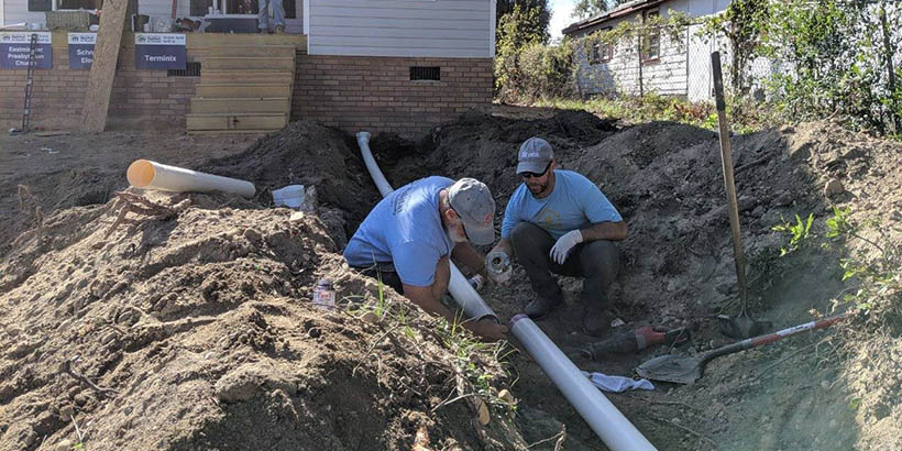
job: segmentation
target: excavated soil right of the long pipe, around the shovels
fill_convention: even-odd
[[[437,129],[431,136],[433,147],[419,143],[419,154],[399,158],[387,170],[389,182],[399,186],[436,173],[475,177],[490,186],[502,210],[520,182],[515,175],[518,145],[532,135],[546,138],[554,146],[560,167],[596,183],[628,223],[629,235],[619,244],[623,267],[608,306],[614,317],[626,321],[618,330],[647,324],[688,327],[694,340],[678,353],[726,344],[729,340],[716,332],[713,317],[735,315],[738,305],[716,134],[670,122],[615,131],[612,122],[596,120],[595,125],[583,124],[582,129],[601,132],[581,135],[559,127],[560,121],[561,114],[535,120],[465,118]],[[380,139],[373,144],[377,151]],[[891,163],[898,162],[900,146],[822,123],[737,135],[732,141],[751,309],[779,329],[811,320],[811,311],[829,312],[832,300],[846,287],[838,265],[842,255],[811,249],[780,258],[787,238],[772,228],[784,220],[794,222],[795,215],[813,213],[816,221],[823,221],[833,215],[833,206],[848,206],[859,217],[876,213],[898,226],[902,196],[890,187],[898,186],[900,178],[898,166]],[[832,178],[842,180],[846,191],[825,194]],[[861,194],[866,189],[871,191],[867,196]],[[501,219],[499,211],[498,227]],[[569,306],[540,324],[564,350],[575,350],[593,339],[579,332],[581,282],[562,280]],[[518,270],[512,288],[493,288],[484,297],[497,312],[510,317],[531,296],[526,274]],[[781,358],[791,359],[796,346],[798,342],[787,341],[718,359],[691,386],[659,384],[667,393],[656,398],[672,403],[670,407],[636,397],[612,397],[652,442],[666,443],[664,449],[714,448],[706,438],[726,449],[749,450],[848,449],[865,443],[860,430],[866,437],[870,433],[862,427],[868,420],[860,413],[856,419],[856,411],[848,407],[849,391],[833,389],[848,383],[837,352],[803,354],[785,367],[766,370]],[[664,350],[602,363],[571,355],[583,370],[629,375],[660,352]],[[514,366],[520,373],[524,416],[563,421],[569,446],[592,449],[593,433],[566,403],[549,400],[548,394],[556,388],[535,363],[515,358]],[[813,391],[812,381],[831,389]],[[899,388],[889,393],[898,395]],[[889,421],[892,416],[886,413],[890,410],[883,411],[870,421]],[[556,433],[556,428],[560,426],[534,427],[525,436],[538,440]],[[886,430],[880,435],[887,436]]]

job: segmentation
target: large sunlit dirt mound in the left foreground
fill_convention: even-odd
[[[1,449],[75,440],[74,421],[89,449],[522,448],[503,416],[481,441],[466,403],[440,406],[470,384],[453,337],[350,272],[316,216],[143,196],[172,215],[63,210],[0,264]],[[314,310],[323,275],[378,315]]]

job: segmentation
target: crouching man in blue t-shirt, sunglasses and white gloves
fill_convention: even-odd
[[[626,238],[626,222],[595,184],[572,170],[556,169],[551,144],[530,138],[517,154],[522,184],[507,202],[502,240],[493,252],[516,255],[538,297],[526,306],[541,318],[563,304],[550,272],[582,276],[583,330],[598,336],[606,326],[607,288],[617,276],[619,251],[614,241]],[[492,254],[490,253],[490,254]],[[509,278],[507,272],[495,282]]]

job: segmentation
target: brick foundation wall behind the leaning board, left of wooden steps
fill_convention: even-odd
[[[57,42],[63,44],[57,46]],[[122,48],[119,55],[107,129],[140,125],[184,130],[189,99],[199,77],[167,77],[166,70],[136,70],[131,47]],[[31,125],[76,130],[89,75],[90,70],[69,69],[65,35],[54,34],[53,69],[33,73]],[[22,124],[24,99],[25,70],[0,70],[3,131]]]

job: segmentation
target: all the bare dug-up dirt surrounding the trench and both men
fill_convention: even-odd
[[[372,146],[395,186],[471,176],[504,206],[518,183],[517,145],[532,135],[554,145],[562,167],[598,184],[629,224],[608,306],[625,324],[610,333],[685,327],[693,339],[672,350],[679,354],[729,342],[713,318],[737,309],[713,133],[502,108],[417,143],[380,135]],[[901,147],[831,124],[736,136],[734,147],[755,314],[784,328],[829,312],[847,287],[842,254],[806,249],[781,258],[785,238],[772,227],[796,213],[823,220],[833,206],[898,226]],[[336,280],[340,298],[381,297],[339,255],[378,199],[349,135],[300,122],[260,138],[2,136],[0,148],[2,449],[73,444],[73,419],[87,426],[88,449],[409,449],[415,438],[426,449],[525,449],[556,436],[530,449],[604,449],[525,353],[504,359],[507,375],[471,359],[493,375],[481,386],[455,358],[460,348],[393,292],[384,298],[409,321],[405,329],[310,307],[321,276]],[[258,193],[116,197],[139,157],[248,178]],[[831,178],[844,193],[824,193]],[[319,208],[289,222],[270,190],[298,183],[317,186]],[[156,215],[129,213],[134,223],[112,228],[129,199],[146,199]],[[568,305],[539,326],[581,369],[630,376],[668,352],[581,356],[594,339],[579,332],[580,280],[562,286]],[[531,296],[519,267],[512,287],[484,293],[503,319]],[[898,449],[899,405],[888,399],[899,384],[879,370],[892,367],[898,346],[871,343],[890,358],[859,369],[887,381],[868,397],[849,371],[857,361],[840,351],[843,334],[813,336],[716,359],[692,385],[608,397],[661,450]],[[472,404],[437,407],[455,391],[494,399],[502,388],[517,407],[493,404],[487,428],[473,421]]]

